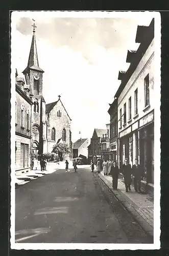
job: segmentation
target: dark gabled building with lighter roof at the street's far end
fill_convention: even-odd
[[[88,147],[88,159],[94,163],[96,163],[97,158],[101,158],[101,138],[106,133],[106,129],[94,129],[90,146]]]

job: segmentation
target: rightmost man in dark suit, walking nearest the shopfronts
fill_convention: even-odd
[[[141,177],[142,170],[138,164],[138,159],[135,159],[135,164],[132,166],[132,175],[134,178],[134,189],[136,192],[141,193]]]

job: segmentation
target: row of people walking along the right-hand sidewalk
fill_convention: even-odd
[[[136,192],[141,192],[141,177],[142,170],[140,165],[138,164],[138,159],[135,159],[135,164],[131,167],[128,163],[128,159],[125,158],[124,164],[122,168],[118,168],[116,161],[105,161],[102,159],[98,159],[96,162],[96,169],[98,173],[103,170],[104,175],[110,175],[112,177],[112,187],[113,189],[117,189],[118,183],[118,174],[122,173],[124,176],[126,192],[131,190],[132,178],[134,179],[134,189]],[[94,163],[91,160],[91,172],[94,170]]]

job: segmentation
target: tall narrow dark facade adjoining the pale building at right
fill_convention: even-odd
[[[110,159],[117,161],[117,98],[114,99],[108,113],[110,115]]]

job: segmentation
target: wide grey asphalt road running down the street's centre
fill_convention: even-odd
[[[16,188],[17,243],[153,243],[89,168]]]

